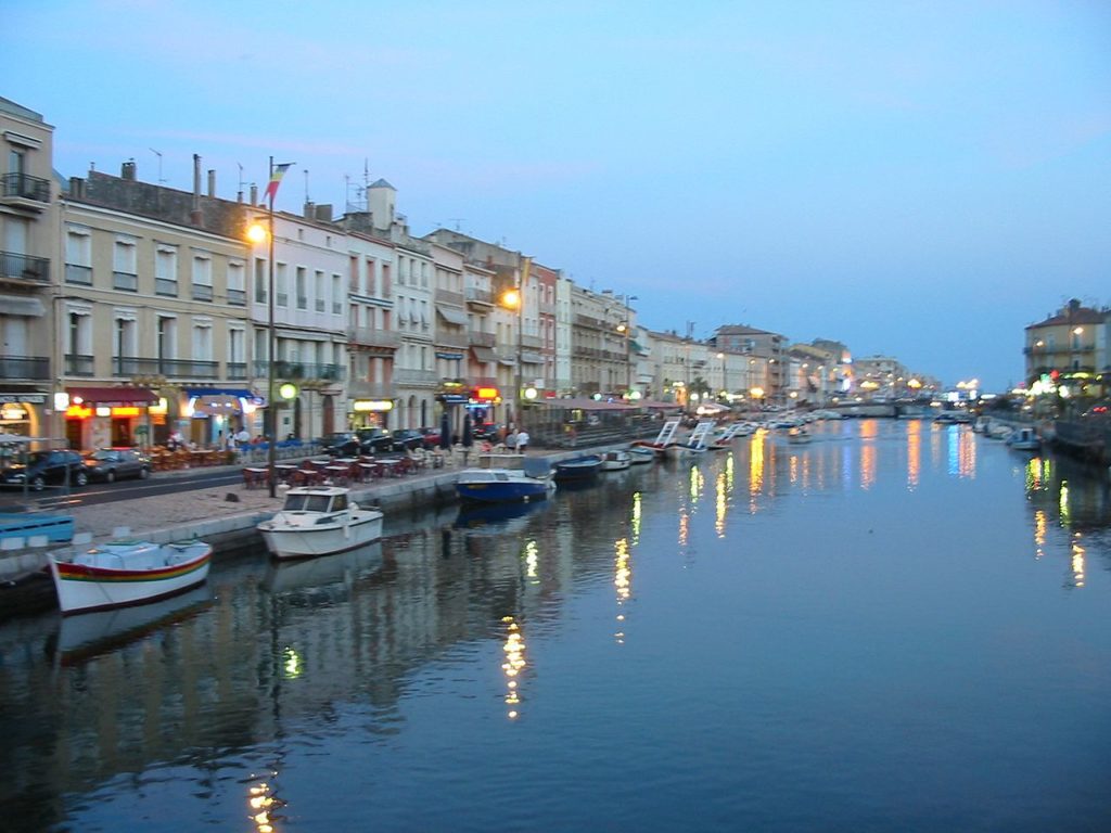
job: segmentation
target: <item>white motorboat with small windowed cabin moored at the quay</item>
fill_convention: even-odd
[[[298,486],[286,505],[258,526],[276,559],[306,559],[353,550],[382,536],[382,513],[362,509],[343,486]]]

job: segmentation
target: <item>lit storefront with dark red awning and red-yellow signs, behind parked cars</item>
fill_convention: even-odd
[[[151,405],[158,394],[146,388],[67,388],[66,438],[72,449],[146,444]],[[59,403],[62,404],[62,403]]]

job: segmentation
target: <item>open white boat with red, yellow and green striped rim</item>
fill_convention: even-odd
[[[142,604],[208,578],[212,546],[203,541],[156,544],[119,540],[74,553],[51,553],[50,574],[62,613]]]

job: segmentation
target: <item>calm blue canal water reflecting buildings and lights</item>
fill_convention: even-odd
[[[1105,479],[760,433],[0,626],[4,830],[1111,830]]]

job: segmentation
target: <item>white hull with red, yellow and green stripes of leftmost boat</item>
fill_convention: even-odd
[[[168,544],[168,548],[173,546]],[[151,569],[113,569],[50,559],[62,613],[123,608],[176,595],[201,584],[212,563],[209,544],[178,548],[183,559]]]

